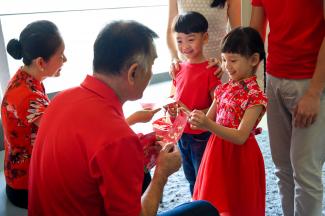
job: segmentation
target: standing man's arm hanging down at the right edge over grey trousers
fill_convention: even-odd
[[[323,0],[325,21],[325,0]],[[308,127],[316,120],[320,110],[320,98],[325,86],[325,37],[318,52],[314,75],[304,96],[295,109],[295,126]]]

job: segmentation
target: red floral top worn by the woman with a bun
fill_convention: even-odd
[[[35,122],[48,106],[44,86],[19,69],[9,82],[1,104],[4,131],[6,183],[28,188],[28,170],[38,126]]]

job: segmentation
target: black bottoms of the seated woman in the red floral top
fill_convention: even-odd
[[[6,185],[6,194],[12,204],[17,207],[25,208],[28,207],[28,191],[27,190],[16,190]]]

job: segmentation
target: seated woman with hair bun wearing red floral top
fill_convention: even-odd
[[[9,41],[7,51],[15,59],[23,59],[24,65],[11,78],[1,103],[6,194],[14,205],[27,208],[31,153],[49,103],[42,81],[59,76],[66,57],[57,27],[45,20],[27,25],[19,40]]]

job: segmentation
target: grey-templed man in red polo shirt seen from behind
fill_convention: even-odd
[[[152,76],[157,35],[134,21],[108,24],[94,44],[92,76],[59,93],[40,123],[30,165],[30,216],[156,215],[164,185],[180,167],[180,153],[159,153],[144,195],[144,154],[122,111],[142,97]],[[184,213],[185,212],[185,213]],[[162,215],[218,215],[192,202]]]

